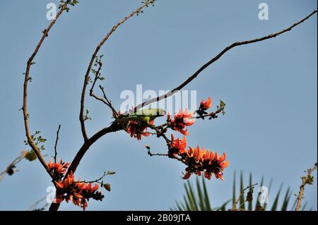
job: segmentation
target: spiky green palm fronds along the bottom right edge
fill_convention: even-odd
[[[243,190],[245,190],[245,193],[243,193],[243,195],[240,195],[240,193],[239,195],[237,195],[236,184],[237,182],[236,182],[236,172],[235,172],[234,178],[233,178],[233,184],[232,184],[232,199],[227,200],[222,205],[220,205],[220,207],[212,208],[210,203],[210,198],[208,196],[208,191],[206,188],[206,180],[204,179],[204,177],[202,176],[201,181],[199,178],[196,178],[195,184],[192,184],[190,181],[187,181],[187,183],[184,183],[185,194],[183,195],[183,201],[180,201],[180,202],[177,201],[176,206],[170,209],[176,210],[176,211],[226,211],[232,208],[238,209],[238,210],[249,210],[249,211],[253,209],[255,211],[266,210],[266,207],[269,205],[269,203],[266,201],[267,199],[264,199],[265,201],[261,201],[261,202],[259,199],[261,197],[264,197],[264,195],[266,194],[269,195],[269,192],[271,191],[272,180],[269,182],[269,186],[266,186],[264,185],[264,176],[262,176],[261,181],[259,183],[259,187],[265,187],[265,186],[268,187],[266,189],[268,193],[261,193],[259,191],[252,192],[252,188],[254,188],[252,173],[249,174],[249,181],[248,181],[249,185],[247,186],[244,183],[243,173],[242,171],[240,172],[240,181],[239,181],[240,193],[242,193]],[[249,198],[247,198],[247,193],[246,193],[247,190],[250,195]],[[283,198],[281,197],[281,195],[283,195],[282,196]],[[292,190],[290,190],[289,187],[283,193],[283,184],[281,184],[276,195],[273,195],[273,196],[275,197],[270,205],[271,211],[288,210],[288,204],[292,197]],[[230,202],[232,202],[232,204],[228,206]],[[237,205],[235,205],[236,203]],[[246,206],[246,203],[247,203],[247,206]],[[291,210],[295,209],[295,203],[296,201],[294,202]],[[305,209],[306,209],[306,203],[302,207],[302,210],[305,210]]]

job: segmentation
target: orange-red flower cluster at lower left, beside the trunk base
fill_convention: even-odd
[[[93,182],[75,181],[72,171],[66,178],[64,178],[64,180],[62,180],[69,163],[60,162],[53,164],[50,160],[48,166],[49,169],[52,170],[53,174],[56,173],[59,175],[59,178],[57,179],[54,177],[54,182],[58,189],[57,197],[54,202],[60,203],[64,200],[69,202],[71,200],[74,205],[78,205],[85,210],[90,198],[101,201],[104,197],[104,195],[98,191],[99,186],[97,183],[95,186],[92,186]]]

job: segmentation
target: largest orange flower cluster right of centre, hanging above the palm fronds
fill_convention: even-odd
[[[169,157],[181,157],[179,159],[187,165],[184,179],[189,178],[192,174],[201,176],[203,172],[204,177],[208,180],[211,179],[213,174],[216,178],[223,180],[223,169],[228,166],[228,161],[225,160],[225,153],[219,156],[217,152],[205,150],[204,147],[200,150],[199,146],[186,149],[187,140],[185,137],[179,140],[179,138],[175,139],[175,137],[171,135],[171,138],[168,155]]]

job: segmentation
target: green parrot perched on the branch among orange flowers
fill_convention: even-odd
[[[139,123],[151,124],[155,118],[159,116],[164,116],[165,110],[160,108],[154,109],[141,109],[136,111],[134,114],[131,114],[127,117],[120,118],[119,121],[137,121]]]

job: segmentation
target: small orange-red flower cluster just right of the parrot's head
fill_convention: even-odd
[[[175,114],[174,118],[170,118],[170,114],[167,115],[167,121],[170,123],[172,130],[177,130],[183,135],[189,135],[189,132],[185,130],[186,126],[192,126],[196,121],[192,118],[193,113],[190,113],[187,109],[182,111],[181,109]]]

